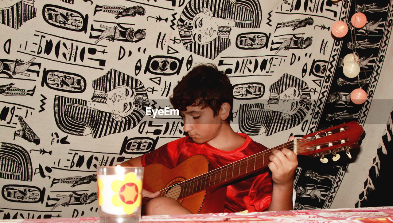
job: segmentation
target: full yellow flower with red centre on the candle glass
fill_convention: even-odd
[[[116,207],[123,206],[126,214],[134,213],[135,208],[141,205],[142,181],[137,180],[134,173],[127,173],[124,181],[115,180],[111,188],[115,192],[112,196],[112,204]]]

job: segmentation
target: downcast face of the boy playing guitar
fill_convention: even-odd
[[[195,143],[209,143],[220,132],[223,120],[219,115],[214,116],[209,107],[187,106],[187,110],[180,112],[184,121],[184,131]]]

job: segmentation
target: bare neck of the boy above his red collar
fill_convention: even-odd
[[[235,133],[230,124],[224,121],[217,136],[206,143],[220,150],[231,151],[239,148],[245,140],[246,138]]]

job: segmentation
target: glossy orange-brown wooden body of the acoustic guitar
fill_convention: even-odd
[[[193,214],[219,213],[224,210],[226,187],[220,187],[212,192],[202,190],[184,198],[179,198],[181,191],[186,188],[176,185],[177,183],[208,171],[209,162],[203,155],[191,156],[174,168],[168,168],[162,164],[149,164],[145,166],[143,188],[152,192],[164,189],[160,196],[178,200],[183,207]]]

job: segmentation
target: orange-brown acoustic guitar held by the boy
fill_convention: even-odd
[[[162,164],[145,166],[143,188],[148,191],[161,191],[160,196],[178,200],[183,207],[194,214],[220,213],[224,210],[226,185],[267,167],[273,149],[288,148],[298,155],[323,157],[337,152],[359,147],[365,133],[356,121],[310,133],[303,138],[294,139],[282,145],[261,151],[242,160],[209,171],[208,160],[203,155],[194,155],[177,165],[168,168]]]

